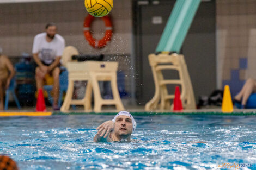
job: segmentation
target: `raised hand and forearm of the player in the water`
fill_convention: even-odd
[[[97,134],[94,136],[94,142],[110,142],[111,141],[111,131],[114,130],[114,122],[106,121],[96,128]]]

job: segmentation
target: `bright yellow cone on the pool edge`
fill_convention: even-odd
[[[224,94],[223,94],[221,109],[222,109],[222,112],[225,112],[225,113],[233,112],[233,103],[232,103],[228,85],[225,85],[224,87]]]

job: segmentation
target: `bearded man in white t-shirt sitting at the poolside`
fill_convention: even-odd
[[[42,89],[45,75],[51,74],[53,76],[53,109],[59,110],[59,65],[65,48],[65,40],[56,34],[56,24],[47,24],[45,30],[45,33],[36,35],[33,42],[33,58],[38,65],[35,69],[36,88]]]

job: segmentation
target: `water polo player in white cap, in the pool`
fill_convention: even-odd
[[[106,121],[97,127],[94,142],[131,141],[131,134],[136,129],[136,122],[127,111],[120,111],[112,121]]]

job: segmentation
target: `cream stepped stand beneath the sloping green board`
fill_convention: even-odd
[[[145,105],[145,110],[151,111],[158,108],[171,108],[170,99],[174,99],[174,95],[168,94],[166,87],[168,84],[180,84],[182,105],[185,109],[196,109],[194,92],[184,56],[178,54],[150,54],[148,58],[154,77],[155,95],[153,99]],[[179,72],[180,79],[165,80],[163,79],[162,70],[177,70]]]

